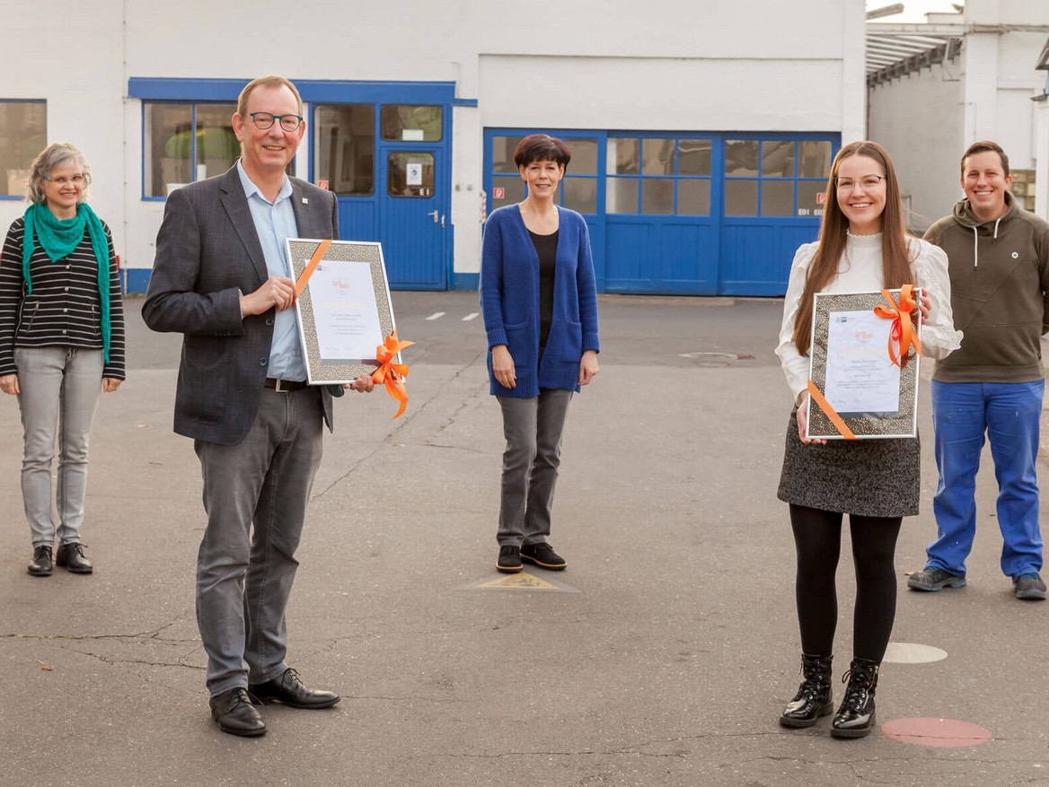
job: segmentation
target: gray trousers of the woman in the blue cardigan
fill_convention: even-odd
[[[528,399],[496,396],[502,408],[502,494],[499,546],[540,544],[550,535],[561,435],[572,391],[539,389]]]

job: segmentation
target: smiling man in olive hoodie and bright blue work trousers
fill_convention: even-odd
[[[971,145],[962,156],[966,199],[925,233],[947,253],[955,328],[965,337],[933,374],[938,538],[926,547],[925,569],[907,582],[917,590],[966,583],[986,432],[999,485],[1002,571],[1018,598],[1046,597],[1034,462],[1045,391],[1042,334],[1049,331],[1049,222],[1016,205],[1011,182],[1000,146]]]

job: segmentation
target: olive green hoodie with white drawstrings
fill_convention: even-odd
[[[1049,331],[1049,222],[1022,211],[980,221],[969,200],[937,221],[925,240],[947,253],[950,308],[962,349],[936,364],[941,382],[1042,379],[1042,334]]]

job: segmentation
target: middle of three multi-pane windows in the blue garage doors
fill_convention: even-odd
[[[708,216],[713,141],[609,136],[605,213]]]

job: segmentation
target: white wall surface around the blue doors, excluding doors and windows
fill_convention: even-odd
[[[6,5],[0,68],[19,75],[0,97],[47,100],[48,138],[84,148],[94,205],[138,268],[152,265],[163,204],[141,198],[130,76],[454,81],[459,97],[479,102],[453,112],[456,272],[479,267],[485,127],[836,131],[845,141],[864,128],[862,0]],[[58,50],[73,64],[41,59],[41,38],[49,49],[68,41]],[[21,211],[0,202],[0,221]]]

